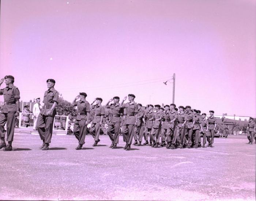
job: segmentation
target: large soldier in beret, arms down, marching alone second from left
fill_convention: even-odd
[[[52,129],[54,116],[56,115],[56,106],[59,103],[59,94],[54,89],[55,80],[46,80],[48,90],[44,94],[44,107],[41,109],[37,119],[37,130],[40,135],[43,144],[40,147],[41,150],[48,150],[49,143],[52,139]]]

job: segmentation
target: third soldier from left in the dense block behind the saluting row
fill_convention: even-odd
[[[159,140],[160,140],[160,131],[161,131],[161,120],[163,118],[163,108],[160,110],[160,105],[155,105],[155,108],[157,111],[153,115],[153,127],[150,133],[150,138],[153,141],[152,147],[157,148],[159,145]]]

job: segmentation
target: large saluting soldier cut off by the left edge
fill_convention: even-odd
[[[0,95],[4,95],[4,105],[0,113],[0,149],[4,151],[12,150],[12,141],[14,137],[15,116],[19,116],[19,89],[13,85],[14,77],[5,76],[0,80],[0,85],[5,81],[6,87],[0,89]],[[7,131],[4,130],[4,125],[7,123]],[[5,143],[5,132],[7,134],[7,146]]]

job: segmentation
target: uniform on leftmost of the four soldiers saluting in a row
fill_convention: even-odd
[[[87,115],[90,115],[90,104],[86,100],[80,100],[73,104],[77,106],[77,116],[74,122],[74,135],[82,147],[87,132]]]

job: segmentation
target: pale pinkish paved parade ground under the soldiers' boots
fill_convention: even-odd
[[[245,136],[215,139],[213,148],[133,146],[110,149],[86,136],[15,135],[14,151],[0,150],[0,200],[255,200],[256,145]]]

